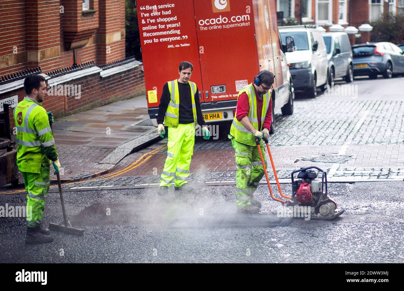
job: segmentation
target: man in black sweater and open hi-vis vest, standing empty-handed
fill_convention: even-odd
[[[164,125],[168,127],[167,158],[161,174],[160,195],[167,193],[174,176],[175,190],[184,193],[194,190],[187,184],[187,177],[194,151],[196,123],[202,127],[203,138],[210,138],[199,103],[198,87],[189,81],[192,71],[191,63],[181,62],[179,79],[167,82],[160,98],[158,134],[163,137]]]

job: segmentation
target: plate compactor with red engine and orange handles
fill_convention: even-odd
[[[272,159],[271,151],[269,150],[268,141],[264,140],[267,146],[269,159],[271,160],[272,169],[274,170],[274,175],[276,179],[276,184],[278,185],[279,193],[283,198],[286,199],[282,200],[275,198],[274,194],[272,193],[271,185],[269,184],[268,173],[265,167],[263,154],[261,152],[261,147],[259,145],[259,140],[256,139],[255,141],[257,143],[258,151],[261,155],[261,162],[264,167],[265,177],[267,178],[269,193],[271,193],[272,199],[282,202],[286,206],[291,206],[292,208],[299,206],[303,207],[303,209],[309,209],[310,219],[332,220],[335,219],[336,217],[339,217],[344,212],[344,210],[336,210],[338,207],[337,202],[335,202],[335,200],[333,200],[328,195],[327,172],[324,172],[320,168],[314,166],[301,168],[299,170],[293,171],[291,174],[292,196],[289,197],[287,195],[282,194],[278,181],[278,175],[276,174],[274,166],[274,161]],[[321,182],[316,180],[317,178],[316,172],[310,169],[316,169],[322,172]],[[297,174],[297,178],[299,180],[295,180],[293,177],[294,174],[296,173],[299,173]],[[325,186],[325,192],[324,192],[324,186]],[[295,218],[304,218],[304,217],[295,217]]]

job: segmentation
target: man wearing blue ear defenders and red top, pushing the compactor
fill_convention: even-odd
[[[236,116],[230,127],[229,138],[236,151],[236,204],[238,212],[254,213],[261,209],[261,202],[254,198],[259,181],[264,176],[261,156],[256,144],[268,140],[271,129],[272,102],[269,90],[274,84],[274,74],[261,71],[254,82],[244,87],[237,96]],[[265,167],[267,161],[264,158]]]

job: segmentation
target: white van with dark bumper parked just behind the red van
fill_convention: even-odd
[[[295,51],[286,53],[295,90],[304,90],[308,96],[317,96],[317,87],[324,90],[328,83],[327,49],[320,30],[314,25],[280,26],[282,42],[286,36],[295,41]]]

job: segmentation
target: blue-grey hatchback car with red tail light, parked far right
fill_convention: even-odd
[[[404,74],[404,52],[391,42],[368,42],[353,45],[354,76],[369,76],[376,79],[378,75],[391,78]]]

